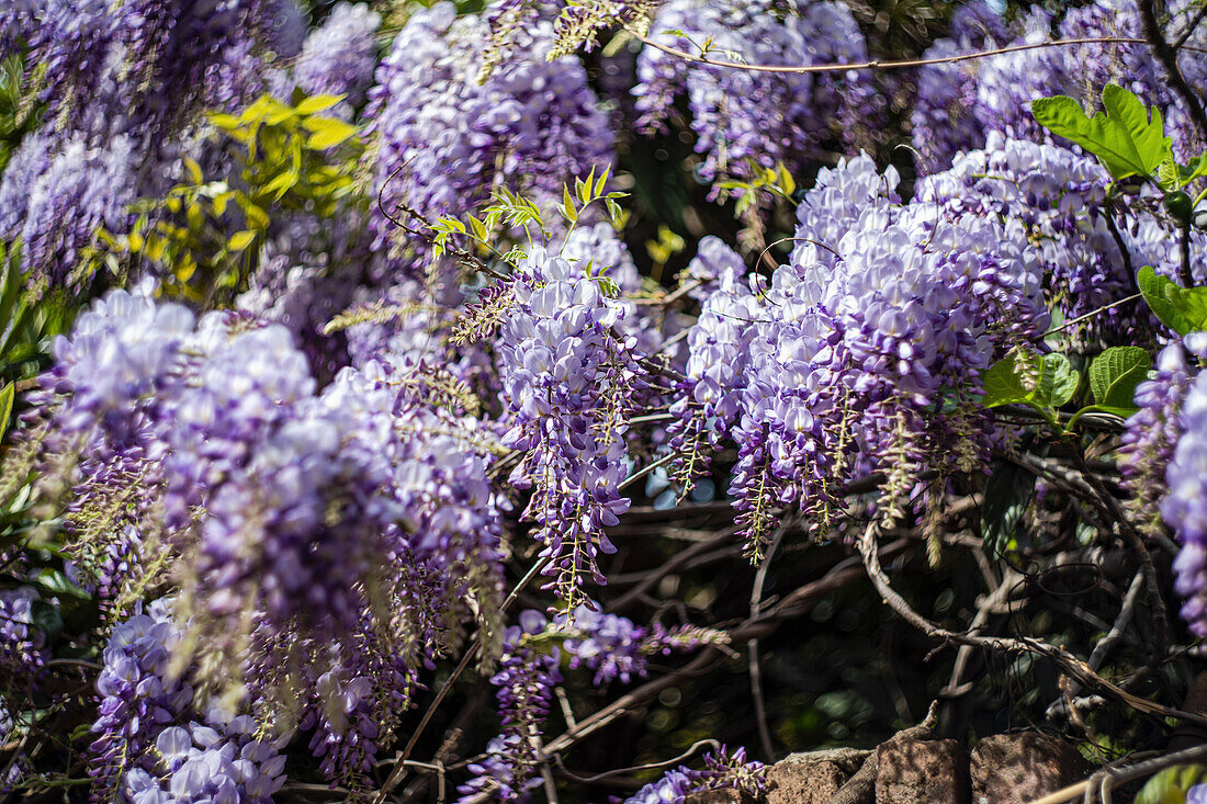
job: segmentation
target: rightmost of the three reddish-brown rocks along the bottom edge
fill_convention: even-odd
[[[1080,781],[1085,773],[1081,755],[1060,738],[995,734],[973,747],[973,802],[1026,804]]]

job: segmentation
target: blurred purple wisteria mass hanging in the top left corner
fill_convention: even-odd
[[[203,141],[203,111],[261,92],[267,53],[295,56],[298,24],[282,0],[56,0],[18,14],[46,112],[0,177],[0,239],[21,238],[28,282],[86,287],[98,227],[123,231],[132,202],[167,188]]]

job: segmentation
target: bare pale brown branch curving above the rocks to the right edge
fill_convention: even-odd
[[[871,579],[873,585],[875,585],[876,592],[880,593],[885,604],[897,612],[902,619],[927,636],[952,642],[955,645],[969,645],[972,647],[987,648],[1004,653],[1033,653],[1036,656],[1042,656],[1060,668],[1065,675],[1079,681],[1083,686],[1107,693],[1116,700],[1121,700],[1127,704],[1138,712],[1144,712],[1145,715],[1153,715],[1156,717],[1173,717],[1196,726],[1207,726],[1207,717],[1162,706],[1161,704],[1132,695],[1118,684],[1114,684],[1096,674],[1089,665],[1068,651],[1044,642],[1043,640],[1037,640],[1031,636],[1009,637],[962,634],[943,628],[937,623],[932,623],[926,617],[922,617],[920,613],[914,611],[914,608],[896,589],[893,589],[892,584],[888,582],[888,576],[885,575],[884,569],[880,566],[880,555],[876,548],[876,537],[880,529],[877,523],[870,523],[857,543],[859,554],[863,557],[864,567],[868,571],[868,577]]]

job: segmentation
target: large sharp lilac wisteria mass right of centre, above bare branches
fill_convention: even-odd
[[[886,474],[885,513],[897,515],[923,470],[980,466],[978,375],[1046,327],[1026,244],[996,220],[949,222],[894,192],[896,174],[867,159],[823,175],[801,204],[793,263],[762,299],[733,272],[689,339],[695,406],[678,410],[737,444],[730,494],[756,554],[776,508],[824,522],[856,470]],[[710,309],[735,299],[729,314]]]

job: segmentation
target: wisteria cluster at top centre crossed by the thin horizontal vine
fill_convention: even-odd
[[[709,58],[748,64],[841,64],[867,60],[863,34],[841,2],[785,4],[777,0],[671,0],[654,17],[652,36],[695,52],[706,40]],[[671,34],[667,31],[682,31]],[[695,148],[705,155],[700,176],[748,179],[752,163],[789,169],[810,147],[836,136],[847,145],[880,113],[871,74],[771,75],[688,65],[647,47],[637,62],[637,109],[642,126],[663,124],[678,97],[692,111]],[[833,130],[832,124],[840,123]]]

